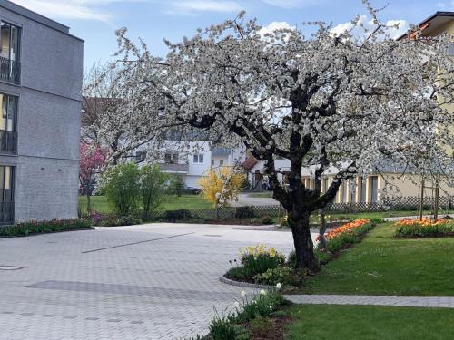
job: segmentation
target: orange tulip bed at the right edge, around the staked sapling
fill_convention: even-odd
[[[434,238],[454,236],[454,223],[449,219],[400,219],[395,223],[396,238]]]

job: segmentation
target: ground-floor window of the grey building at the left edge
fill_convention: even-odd
[[[15,168],[0,166],[0,223],[12,223],[15,220]]]

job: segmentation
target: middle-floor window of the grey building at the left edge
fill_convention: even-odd
[[[17,132],[15,131],[15,116],[17,112],[17,98],[0,93],[0,152],[17,153]]]

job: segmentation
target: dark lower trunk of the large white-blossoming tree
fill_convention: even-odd
[[[320,269],[319,262],[313,253],[311,229],[309,226],[310,212],[300,214],[289,214],[289,224],[293,234],[295,245],[296,265],[299,268],[307,268],[314,272]]]

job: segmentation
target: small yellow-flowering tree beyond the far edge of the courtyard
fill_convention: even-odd
[[[216,209],[216,219],[219,219],[219,207],[238,198],[244,180],[245,176],[232,167],[210,169],[199,180],[203,197]]]

